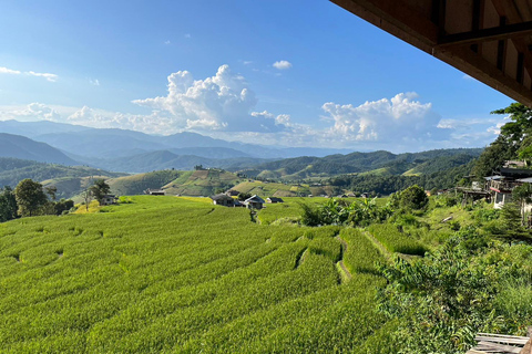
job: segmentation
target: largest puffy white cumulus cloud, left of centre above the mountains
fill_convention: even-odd
[[[166,96],[133,103],[167,114],[174,128],[232,132],[278,132],[284,128],[266,115],[253,115],[257,100],[243,76],[228,65],[216,74],[194,80],[187,71],[172,73]]]

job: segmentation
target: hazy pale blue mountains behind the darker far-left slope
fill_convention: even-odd
[[[168,136],[149,135],[126,129],[96,129],[53,122],[0,122],[0,133],[20,135],[45,143],[66,156],[66,165],[83,164],[126,173],[164,168],[191,169],[195,165],[244,168],[273,159],[301,155],[347,154],[348,149],[293,148],[226,142],[196,133]],[[9,157],[43,162],[30,155]],[[47,162],[59,162],[57,158]]]

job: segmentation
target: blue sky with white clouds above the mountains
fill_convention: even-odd
[[[413,152],[485,146],[512,102],[326,0],[19,0],[0,23],[0,119]]]

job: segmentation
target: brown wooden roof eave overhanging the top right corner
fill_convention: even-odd
[[[330,0],[532,107],[532,0]]]

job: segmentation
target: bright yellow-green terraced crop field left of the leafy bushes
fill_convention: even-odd
[[[130,201],[0,223],[2,353],[385,353],[385,281],[355,264],[380,259],[370,244],[344,254],[338,228],[205,198]]]

